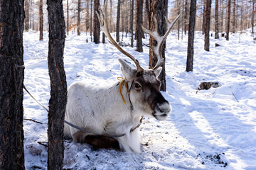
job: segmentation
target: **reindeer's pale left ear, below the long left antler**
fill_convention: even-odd
[[[118,59],[118,61],[121,65],[120,68],[121,68],[122,74],[124,75],[124,79],[126,81],[132,81],[132,79],[134,79],[135,77],[136,69],[129,66],[129,64],[127,64],[127,62],[125,62],[122,59]]]

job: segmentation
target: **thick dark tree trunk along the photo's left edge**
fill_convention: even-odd
[[[0,1],[0,169],[25,169],[23,2]]]

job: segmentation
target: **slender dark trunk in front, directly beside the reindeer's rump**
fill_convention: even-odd
[[[47,0],[49,22],[48,69],[50,101],[48,113],[48,169],[63,169],[63,128],[67,82],[63,64],[65,21],[62,0]]]

